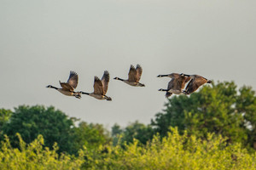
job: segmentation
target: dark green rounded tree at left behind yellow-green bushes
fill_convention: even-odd
[[[45,146],[51,147],[56,142],[60,152],[73,153],[72,127],[73,121],[52,106],[45,108],[42,105],[21,105],[15,108],[9,123],[3,125],[3,134],[9,136],[15,147],[19,146],[16,133],[20,133],[26,143],[31,143],[41,134],[44,136]]]

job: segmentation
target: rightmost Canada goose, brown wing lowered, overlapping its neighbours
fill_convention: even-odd
[[[199,75],[186,75],[191,77],[190,82],[188,83],[186,89],[183,91],[183,94],[192,94],[197,90],[197,88],[201,87],[201,85],[205,83],[212,83],[211,80],[207,80],[205,77],[201,77]]]

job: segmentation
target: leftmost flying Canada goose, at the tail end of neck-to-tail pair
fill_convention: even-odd
[[[61,82],[61,88],[55,88],[52,85],[48,85],[46,88],[54,88],[61,92],[61,94],[67,95],[67,96],[74,96],[78,99],[81,98],[81,94],[79,92],[74,92],[74,88],[77,88],[78,82],[79,82],[79,76],[76,72],[70,71],[69,78],[67,82]]]

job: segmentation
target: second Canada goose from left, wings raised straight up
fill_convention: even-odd
[[[112,99],[106,95],[108,91],[108,82],[109,82],[109,72],[104,71],[102,80],[100,80],[99,77],[94,77],[93,93],[89,94],[82,91],[80,93],[90,95],[91,97],[94,97],[96,99],[107,99],[111,101]]]

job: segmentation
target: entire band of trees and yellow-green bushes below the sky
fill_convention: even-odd
[[[26,160],[29,154],[24,155],[24,150],[43,156],[48,153],[47,156],[53,156],[53,165],[61,160],[66,162],[67,166],[61,169],[241,169],[235,168],[236,164],[252,169],[256,166],[255,92],[247,86],[237,89],[234,82],[212,83],[198,93],[174,96],[148,125],[115,124],[108,132],[101,124],[79,122],[75,126],[78,121],[53,106],[1,109],[1,166],[16,161],[15,156],[25,156]],[[171,127],[177,128],[171,131]],[[38,146],[32,149],[32,145]],[[20,155],[6,159],[4,156],[8,154],[4,151]],[[30,160],[30,165],[47,167],[44,165],[47,161],[37,161],[38,157]]]

